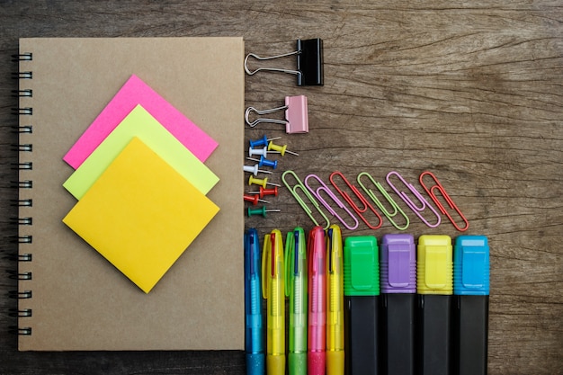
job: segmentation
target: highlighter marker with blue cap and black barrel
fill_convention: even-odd
[[[453,373],[487,375],[487,237],[460,236],[453,249]]]

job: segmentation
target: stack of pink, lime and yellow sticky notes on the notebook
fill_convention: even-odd
[[[78,201],[63,222],[149,292],[219,211],[204,164],[217,146],[131,76],[64,156]]]

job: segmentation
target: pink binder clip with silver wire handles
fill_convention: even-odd
[[[255,121],[250,121],[250,113],[256,114],[270,114],[273,112],[284,111],[285,120],[276,119],[262,119],[258,118]],[[251,128],[254,128],[260,122],[270,122],[273,124],[285,124],[285,132],[288,134],[308,133],[308,104],[307,96],[286,96],[285,105],[269,110],[256,110],[255,107],[246,108],[245,121]]]

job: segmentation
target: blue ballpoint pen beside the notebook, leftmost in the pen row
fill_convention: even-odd
[[[245,350],[246,374],[264,375],[264,326],[260,275],[258,232],[250,228],[245,234]]]

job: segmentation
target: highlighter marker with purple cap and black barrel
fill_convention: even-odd
[[[385,235],[380,253],[381,373],[415,374],[416,246],[412,235]]]

